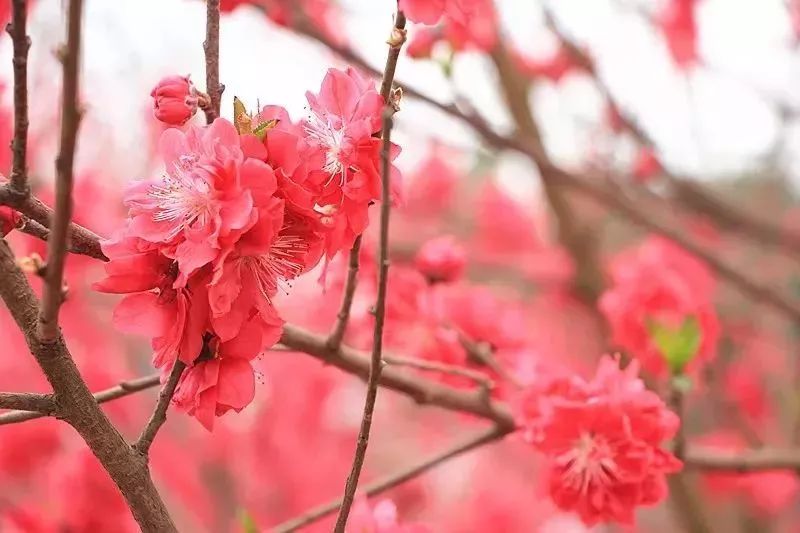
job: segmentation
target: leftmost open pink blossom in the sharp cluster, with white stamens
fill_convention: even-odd
[[[217,258],[222,241],[253,224],[253,199],[241,185],[244,156],[233,124],[163,133],[166,173],[138,182],[125,195],[131,231],[175,259],[176,285]]]

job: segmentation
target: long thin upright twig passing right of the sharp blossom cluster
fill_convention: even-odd
[[[387,99],[391,99],[392,80],[394,80],[397,60],[400,50],[406,40],[406,17],[402,11],[397,11],[395,23],[389,38],[389,55],[386,59],[386,69],[381,84],[381,94],[384,95],[383,127],[381,128],[381,221],[380,242],[378,244],[378,294],[375,300],[375,333],[372,340],[372,357],[370,358],[369,374],[367,377],[367,396],[364,401],[364,415],[361,419],[361,428],[358,432],[356,452],[353,457],[353,467],[344,489],[342,505],[336,519],[334,533],[344,533],[347,517],[353,505],[358,478],[364,466],[364,458],[369,444],[369,433],[372,427],[372,415],[375,410],[375,400],[378,397],[378,382],[380,380],[383,361],[383,326],[386,319],[386,285],[389,277],[389,215],[391,213],[391,180],[392,180],[392,116],[395,108]]]

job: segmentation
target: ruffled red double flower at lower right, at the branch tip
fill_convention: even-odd
[[[529,387],[518,416],[525,436],[550,460],[555,504],[587,525],[634,521],[634,510],[667,495],[665,476],[681,462],[661,449],[679,419],[638,377],[605,356],[591,381],[558,378]]]

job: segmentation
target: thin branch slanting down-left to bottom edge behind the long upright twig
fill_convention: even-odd
[[[450,459],[458,457],[459,455],[462,455],[470,450],[474,450],[475,448],[479,448],[490,442],[494,442],[507,435],[508,432],[509,430],[507,428],[492,428],[488,431],[481,431],[480,433],[464,439],[463,441],[444,450],[443,452],[434,454],[417,464],[370,483],[362,489],[361,493],[369,497],[385,492],[402,483],[405,483],[408,480],[424,474],[428,470],[431,470],[432,468],[435,468],[438,465],[449,461]],[[335,512],[341,503],[341,499],[333,500],[308,511],[301,516],[292,518],[291,520],[270,528],[270,531],[272,533],[291,533],[293,531],[297,531],[300,528],[313,524],[314,522]]]

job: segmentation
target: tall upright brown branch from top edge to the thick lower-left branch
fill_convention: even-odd
[[[58,337],[58,311],[62,294],[64,262],[72,218],[72,179],[75,144],[81,110],[78,107],[80,74],[81,15],[83,0],[70,0],[67,11],[67,44],[59,52],[64,66],[61,99],[61,143],[56,157],[56,207],[50,239],[47,242],[47,272],[39,314],[39,336],[42,342],[55,342]]]

